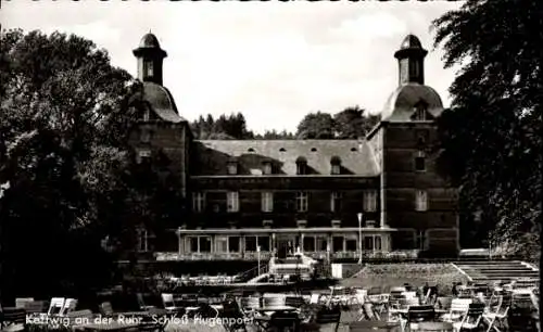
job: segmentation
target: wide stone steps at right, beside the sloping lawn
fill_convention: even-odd
[[[520,260],[456,261],[453,265],[476,283],[516,281],[517,284],[533,284],[540,280],[539,269]]]

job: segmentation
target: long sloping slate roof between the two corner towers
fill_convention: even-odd
[[[313,151],[312,151],[313,150]],[[265,162],[274,174],[296,175],[296,159],[307,161],[308,175],[329,176],[331,161],[341,161],[341,175],[379,175],[366,141],[357,140],[200,140],[194,141],[193,175],[227,175],[227,164],[238,163],[238,175],[257,175]]]

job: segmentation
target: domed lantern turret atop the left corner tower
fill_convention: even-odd
[[[162,86],[162,63],[167,53],[161,49],[156,36],[151,33],[144,35],[132,53],[138,60],[138,79]]]

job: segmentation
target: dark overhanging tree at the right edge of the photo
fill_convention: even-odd
[[[433,22],[445,67],[462,64],[439,120],[442,169],[495,242],[532,257],[541,245],[542,11],[539,1],[469,0]]]

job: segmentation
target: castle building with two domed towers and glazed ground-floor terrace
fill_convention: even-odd
[[[152,34],[134,50],[146,107],[130,133],[137,157],[163,153],[181,178],[187,214],[139,251],[165,259],[256,259],[300,250],[330,259],[399,251],[456,252],[457,191],[438,175],[439,94],[427,51],[407,36],[399,86],[362,140],[194,140],[163,86],[167,56]]]

